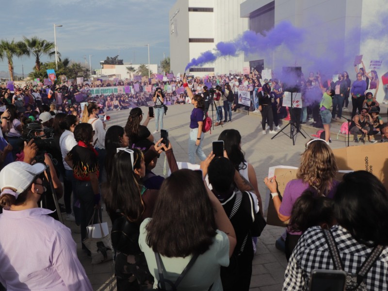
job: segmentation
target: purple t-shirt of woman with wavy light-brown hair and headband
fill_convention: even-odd
[[[337,191],[337,186],[339,181],[333,180],[333,187],[330,192],[327,194],[328,198],[333,198],[334,194]],[[284,216],[291,216],[292,207],[295,204],[296,199],[298,199],[302,193],[309,187],[308,183],[303,182],[301,179],[291,180],[287,183],[286,189],[284,189],[284,194],[282,197],[282,204],[279,208],[279,213]],[[314,190],[312,188],[312,190]],[[287,232],[290,234],[302,234],[302,232],[292,232],[287,229]]]

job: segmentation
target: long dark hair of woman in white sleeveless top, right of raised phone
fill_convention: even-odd
[[[246,169],[246,165],[242,164],[245,162],[244,152],[240,148],[241,144],[241,134],[236,129],[225,129],[221,132],[218,137],[219,141],[224,141],[224,149],[226,150],[226,154],[233,163],[234,168],[239,171],[241,169]]]

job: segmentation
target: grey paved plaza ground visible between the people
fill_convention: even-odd
[[[148,109],[143,107],[143,112],[146,114]],[[188,136],[189,136],[189,123],[190,113],[193,109],[193,105],[174,105],[169,106],[167,115],[163,118],[163,128],[169,130],[169,139],[172,143],[174,155],[178,162],[188,161]],[[386,109],[384,109],[386,111]],[[383,111],[383,112],[384,112]],[[211,111],[209,112],[211,117]],[[107,128],[112,125],[125,126],[129,115],[129,110],[109,112],[111,120],[107,122]],[[215,112],[214,112],[215,117]],[[263,183],[263,179],[268,174],[268,167],[275,165],[289,165],[298,166],[300,161],[300,154],[305,149],[305,144],[311,137],[311,134],[315,134],[317,129],[303,126],[307,139],[304,139],[300,134],[296,135],[295,146],[292,146],[292,140],[283,133],[280,133],[273,140],[273,135],[263,135],[261,133],[261,116],[257,113],[249,113],[249,115],[242,111],[233,113],[232,122],[226,123],[223,127],[214,127],[211,130],[211,134],[207,132],[204,140],[205,154],[210,153],[211,142],[217,140],[219,134],[224,129],[237,129],[242,135],[242,149],[245,152],[246,161],[250,162],[256,171],[259,192],[263,199],[263,205],[266,205],[267,191]],[[283,123],[285,126],[287,122]],[[339,135],[337,140],[337,133],[340,128],[340,123],[333,124],[332,127],[332,148],[339,148],[345,146],[344,136]],[[155,130],[155,121],[151,119],[148,125],[148,129],[153,132]],[[290,127],[285,130],[290,133]],[[160,134],[155,134],[155,140],[160,138]],[[351,142],[351,145],[354,145]],[[197,158],[197,162],[199,159]],[[163,175],[164,154],[158,160],[158,164],[154,170],[155,173]],[[168,172],[168,164],[167,170]],[[110,219],[103,211],[103,221],[107,221],[110,225]],[[66,222],[72,230],[76,230],[78,227],[72,222]],[[251,279],[252,291],[277,291],[281,290],[283,283],[283,276],[287,261],[284,253],[278,251],[275,248],[275,240],[282,234],[284,228],[277,226],[266,226],[261,236],[259,237],[257,244],[257,252],[253,259],[253,272]],[[73,232],[73,238],[77,242],[78,256],[82,265],[85,268],[86,274],[93,285],[94,290],[105,291],[115,289],[115,279],[113,277],[112,261],[92,265],[91,259],[87,257],[85,252],[81,250],[81,235]]]

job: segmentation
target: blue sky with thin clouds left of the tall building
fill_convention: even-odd
[[[54,42],[62,58],[100,68],[99,61],[119,55],[124,62],[159,64],[170,54],[168,12],[176,0],[5,0],[1,3],[0,39],[38,36]],[[42,61],[48,61],[44,56]],[[54,58],[52,58],[54,61]],[[32,71],[33,58],[14,58],[15,72]],[[8,71],[6,60],[0,71]]]

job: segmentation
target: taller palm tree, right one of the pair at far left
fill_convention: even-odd
[[[35,70],[40,69],[40,57],[42,55],[52,56],[55,54],[55,45],[53,42],[45,39],[40,39],[37,36],[32,36],[31,39],[23,36],[24,43],[26,45],[26,55],[35,57]],[[53,50],[54,49],[54,50]]]

